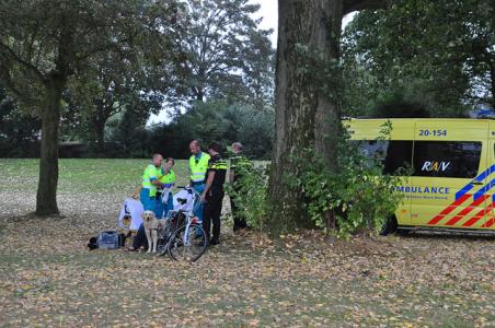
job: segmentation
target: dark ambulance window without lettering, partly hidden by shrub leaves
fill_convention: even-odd
[[[399,168],[411,166],[412,141],[362,140],[359,149],[368,159],[381,159],[384,174],[395,174]],[[373,164],[372,161],[369,163]]]

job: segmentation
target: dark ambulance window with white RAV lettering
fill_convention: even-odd
[[[473,178],[477,174],[481,142],[416,141],[414,175]]]

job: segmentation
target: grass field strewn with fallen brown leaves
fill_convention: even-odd
[[[89,251],[146,164],[61,160],[62,216],[36,219],[37,161],[0,160],[1,327],[495,326],[493,238],[304,234],[274,245],[232,235],[226,206],[222,243],[196,263]]]

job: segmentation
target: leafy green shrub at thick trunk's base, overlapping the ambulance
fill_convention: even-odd
[[[383,126],[380,139],[387,138],[390,129],[390,125]],[[306,149],[306,160],[301,159],[304,169],[291,180],[302,186],[307,210],[315,225],[348,238],[365,227],[378,230],[393,214],[402,195],[395,191],[401,178],[382,174],[383,157],[367,157],[357,142],[345,132],[342,136],[334,141],[334,169],[329,169],[313,149]]]

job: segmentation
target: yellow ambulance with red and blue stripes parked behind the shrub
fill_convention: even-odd
[[[390,140],[377,140],[387,121]],[[412,168],[389,230],[495,233],[495,120],[352,118],[344,126],[367,155],[384,156],[384,173]]]

